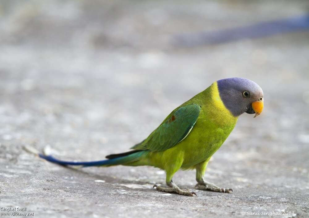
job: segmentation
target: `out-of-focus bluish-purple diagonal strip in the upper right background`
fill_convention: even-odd
[[[309,29],[309,14],[288,19],[256,23],[244,27],[236,27],[212,32],[200,32],[195,34],[177,35],[176,46],[199,46],[219,43],[227,43],[241,39],[254,39],[287,32]]]

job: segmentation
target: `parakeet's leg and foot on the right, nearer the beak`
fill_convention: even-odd
[[[196,189],[205,190],[205,191],[217,191],[224,193],[234,192],[231,188],[220,188],[213,183],[209,183],[204,181],[203,177],[205,174],[205,170],[210,158],[196,165],[196,181],[197,184],[195,186]]]

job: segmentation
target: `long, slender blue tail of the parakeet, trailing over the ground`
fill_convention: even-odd
[[[113,166],[113,165],[121,165],[127,164],[134,161],[139,160],[142,155],[147,154],[149,151],[141,150],[126,156],[121,156],[117,158],[111,158],[107,160],[99,160],[99,161],[89,161],[89,162],[74,162],[74,161],[62,161],[54,158],[51,155],[39,154],[40,158],[43,158],[49,162],[57,163],[63,166],[81,166],[81,167],[94,167],[94,166]]]

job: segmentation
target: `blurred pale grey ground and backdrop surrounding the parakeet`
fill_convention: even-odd
[[[309,1],[0,2],[0,205],[49,217],[309,213]],[[263,113],[239,118],[205,178],[233,195],[163,195],[152,167],[73,171],[125,152],[216,80],[245,77]],[[194,171],[174,181],[193,188]],[[282,217],[282,216],[280,216]]]

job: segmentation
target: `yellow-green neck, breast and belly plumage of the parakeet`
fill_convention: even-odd
[[[174,147],[162,152],[149,153],[149,165],[165,169],[167,164],[182,162],[190,168],[211,157],[233,130],[238,117],[234,117],[221,101],[217,82],[181,106],[201,106],[201,112],[191,132]]]

